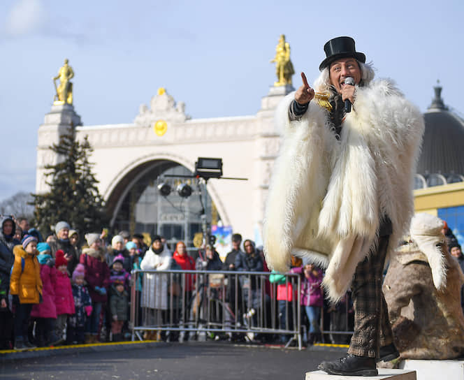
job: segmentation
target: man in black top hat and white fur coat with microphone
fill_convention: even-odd
[[[319,369],[375,376],[377,361],[398,357],[382,271],[414,212],[423,117],[391,81],[373,80],[353,38],[333,38],[324,51],[314,89],[302,73],[303,85],[276,111],[284,142],[266,209],[266,260],[280,272],[292,254],[324,265],[332,302],[351,285],[347,356]]]

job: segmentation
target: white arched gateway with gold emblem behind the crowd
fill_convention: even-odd
[[[164,89],[153,96],[150,107],[140,105],[132,124],[82,126],[73,105],[54,104],[38,129],[36,192],[47,190],[45,165],[57,159],[50,145],[66,129],[75,128],[77,138],[88,136],[94,149],[90,160],[112,227],[190,240],[201,223],[198,193],[184,200],[175,192],[162,198],[156,190],[159,177],[192,173],[199,156],[218,157],[224,176],[248,180],[209,180],[207,191],[202,191],[208,219],[217,214],[224,226],[255,238],[261,234],[270,173],[280,146],[273,113],[292,89],[270,87],[256,115],[212,119],[191,119],[184,104],[176,104]],[[192,187],[198,191],[196,183]]]

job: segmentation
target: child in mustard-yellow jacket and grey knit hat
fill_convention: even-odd
[[[32,305],[42,298],[41,265],[37,260],[37,239],[25,235],[13,248],[15,262],[10,276],[10,294],[15,305],[15,349],[35,348],[27,337],[27,323]]]

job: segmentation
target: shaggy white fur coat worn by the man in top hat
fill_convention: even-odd
[[[356,89],[337,140],[328,112],[314,101],[290,122],[293,98],[276,110],[284,142],[266,206],[266,261],[285,272],[292,254],[309,257],[326,267],[324,287],[336,301],[376,244],[382,214],[393,225],[389,252],[409,227],[423,117],[391,82],[377,80]]]

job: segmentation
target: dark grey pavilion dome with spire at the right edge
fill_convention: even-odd
[[[415,188],[464,181],[464,119],[444,105],[442,87],[423,114],[426,130],[417,164]]]

